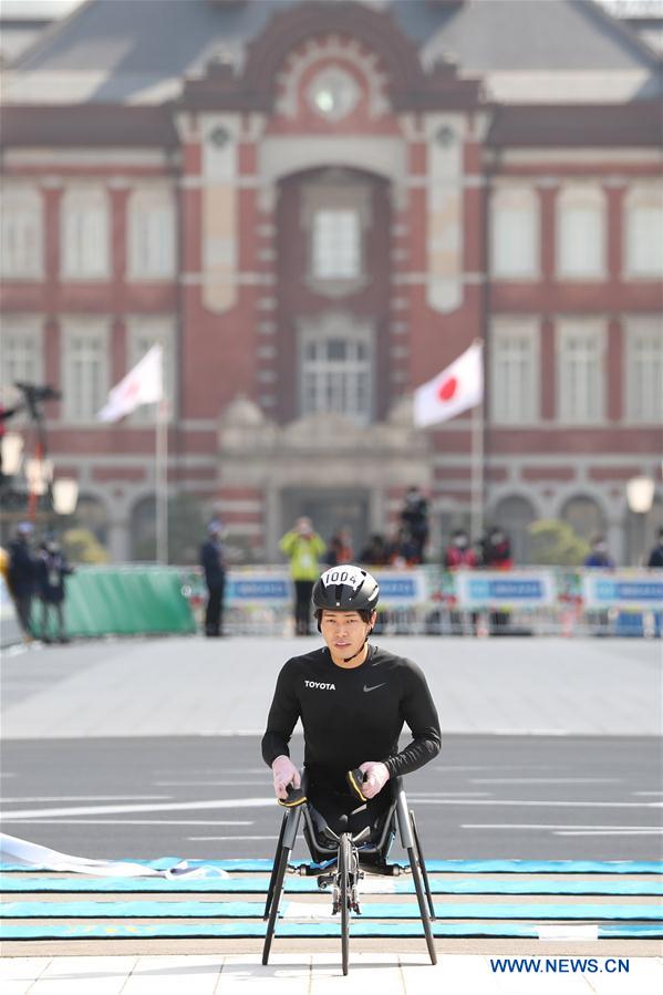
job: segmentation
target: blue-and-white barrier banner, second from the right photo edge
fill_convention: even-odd
[[[460,609],[548,608],[557,600],[550,571],[458,570],[454,574]]]

